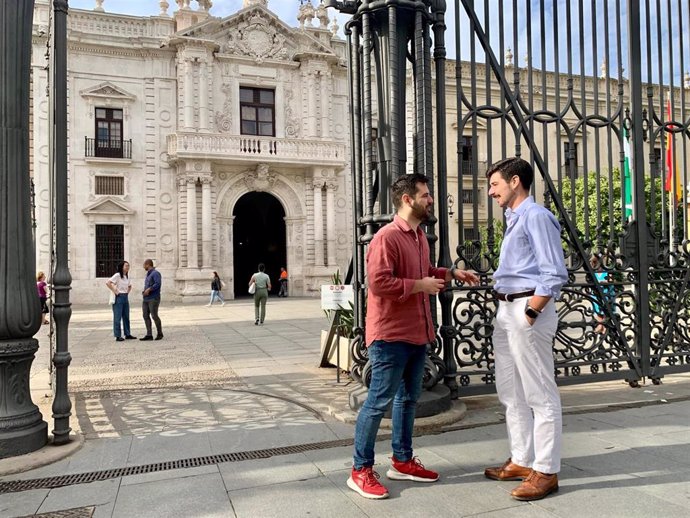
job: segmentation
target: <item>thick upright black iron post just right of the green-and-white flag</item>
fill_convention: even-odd
[[[639,267],[639,286],[637,293],[637,351],[641,361],[643,376],[650,372],[651,328],[649,322],[649,255],[647,210],[645,200],[643,123],[642,123],[642,51],[639,34],[640,2],[628,0],[628,58],[630,70],[630,106],[632,159],[635,175],[635,218],[637,225],[637,264]],[[622,130],[621,130],[622,131]]]

